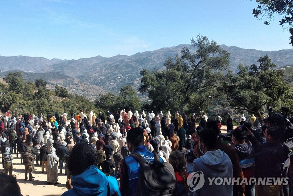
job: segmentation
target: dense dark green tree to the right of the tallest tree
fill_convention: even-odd
[[[289,87],[282,77],[282,70],[276,67],[268,55],[260,57],[260,65],[239,65],[237,75],[231,75],[230,82],[226,83],[225,90],[230,106],[239,111],[248,111],[256,114],[265,110],[265,105],[276,106],[289,93]]]

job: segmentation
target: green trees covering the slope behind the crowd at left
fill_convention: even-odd
[[[21,72],[10,72],[4,77],[8,85],[0,83],[1,111],[16,111],[17,113],[54,114],[56,111],[79,112],[84,110],[97,112],[96,107],[86,97],[73,95],[64,87],[56,86],[55,91],[46,88],[47,82],[37,79],[35,82],[25,82]],[[56,96],[54,96],[56,94]],[[64,98],[66,97],[66,98]]]

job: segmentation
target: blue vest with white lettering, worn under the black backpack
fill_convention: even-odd
[[[144,145],[138,146],[134,149],[133,152],[137,152],[144,157],[149,163],[154,162],[154,153],[149,152]],[[135,192],[137,189],[137,182],[140,173],[140,165],[139,163],[131,156],[127,156],[124,158],[125,163],[127,165],[127,173],[128,173],[128,181],[129,181],[129,188],[131,190],[131,195],[135,196]],[[161,158],[160,158],[161,159]],[[161,162],[163,160],[161,159]]]

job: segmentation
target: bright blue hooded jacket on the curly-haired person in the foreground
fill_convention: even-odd
[[[83,173],[71,176],[73,188],[64,192],[61,196],[106,196],[108,195],[108,184],[109,195],[121,196],[116,178],[105,176],[97,166],[92,165]]]

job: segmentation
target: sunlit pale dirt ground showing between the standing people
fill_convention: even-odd
[[[222,133],[226,133],[226,126],[222,125]],[[67,191],[66,188],[66,176],[64,174],[58,176],[58,182],[60,184],[53,185],[47,184],[47,174],[41,173],[41,167],[35,165],[36,171],[33,171],[35,179],[33,181],[26,181],[24,177],[24,165],[20,163],[20,154],[16,158],[16,154],[13,154],[13,174],[17,177],[17,182],[21,188],[21,194],[24,196],[59,196],[63,192]],[[1,159],[0,159],[1,160]],[[4,171],[4,169],[3,169]],[[58,169],[59,173],[59,169]],[[64,173],[64,167],[63,167]]]

